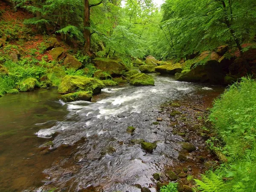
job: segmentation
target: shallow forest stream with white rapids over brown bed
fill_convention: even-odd
[[[0,98],[0,191],[140,191],[133,185],[151,183],[153,173],[171,166],[183,141],[171,134],[160,105],[218,90],[170,76],[154,79],[155,86],[105,88],[93,102],[64,103],[56,90]],[[152,125],[158,116],[163,122]],[[157,148],[147,153],[131,139],[157,142]],[[39,148],[49,140],[52,148]]]

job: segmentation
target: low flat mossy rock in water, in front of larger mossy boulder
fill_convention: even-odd
[[[91,101],[93,95],[88,91],[78,91],[75,93],[68,93],[61,96],[61,100],[64,102],[73,102],[78,100]]]

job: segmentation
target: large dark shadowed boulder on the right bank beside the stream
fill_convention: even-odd
[[[210,60],[206,64],[197,65],[189,72],[181,75],[177,81],[223,84],[225,76],[226,73],[222,70],[220,63]]]

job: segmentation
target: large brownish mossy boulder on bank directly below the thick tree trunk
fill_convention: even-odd
[[[93,63],[96,68],[108,72],[111,76],[120,76],[128,71],[128,68],[122,61],[112,58],[95,58]]]

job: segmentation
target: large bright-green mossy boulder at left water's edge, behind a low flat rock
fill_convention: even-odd
[[[58,93],[70,93],[81,90],[91,91],[93,94],[97,94],[101,92],[103,87],[105,87],[105,84],[97,79],[84,76],[65,76],[58,87]]]

